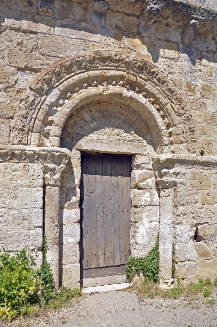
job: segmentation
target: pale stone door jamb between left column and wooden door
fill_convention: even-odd
[[[62,176],[60,196],[60,285],[80,287],[80,152],[72,150],[71,163]]]

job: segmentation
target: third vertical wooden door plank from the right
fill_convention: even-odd
[[[113,249],[114,265],[121,264],[120,259],[120,234],[119,234],[119,214],[118,214],[118,178],[117,178],[117,155],[111,155],[111,194],[112,194],[112,221],[113,221]]]

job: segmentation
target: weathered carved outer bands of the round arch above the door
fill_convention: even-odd
[[[116,71],[117,78],[108,81],[105,76],[105,79],[102,80],[101,78],[99,82],[99,78],[91,79],[93,72],[96,71],[98,71],[98,75],[101,73],[101,76],[104,73],[106,75],[108,71]],[[118,76],[121,76],[122,72],[129,78],[121,80]],[[79,83],[79,76],[85,73],[91,75],[91,78],[88,78],[81,85]],[[38,120],[39,125],[43,125],[46,119],[46,110],[41,108],[43,108],[43,104],[46,102],[48,92],[55,88],[61,89],[61,85],[72,78],[78,81],[77,85],[74,85],[73,89],[70,89],[70,92],[64,95],[65,99],[61,95],[59,96],[59,106],[64,106],[65,101],[82,90],[97,86],[104,88],[107,86],[122,87],[127,91],[146,97],[163,119],[170,135],[173,126],[166,111],[166,106],[169,104],[173,112],[175,112],[177,119],[179,119],[180,126],[182,126],[183,138],[186,139],[185,142],[189,151],[192,153],[197,152],[197,136],[195,124],[190,113],[191,108],[189,108],[178,86],[168,80],[167,75],[150,62],[117,51],[87,53],[77,58],[61,59],[48,66],[33,80],[30,90],[23,96],[20,105],[16,109],[11,128],[12,144],[28,144],[28,135],[29,132],[34,131],[36,120]],[[142,83],[138,86],[139,80]],[[159,101],[159,95],[163,95],[165,99],[162,103]]]

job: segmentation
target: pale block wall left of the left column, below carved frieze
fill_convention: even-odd
[[[0,247],[25,246],[42,263],[43,164],[0,163]]]

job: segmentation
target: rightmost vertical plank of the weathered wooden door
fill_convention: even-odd
[[[124,203],[124,230],[125,230],[125,260],[130,256],[130,212],[129,208],[129,167],[128,156],[121,156],[121,173],[122,173],[122,189]]]

